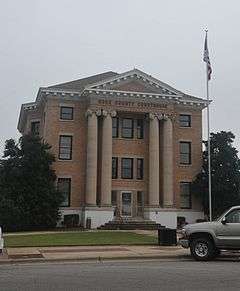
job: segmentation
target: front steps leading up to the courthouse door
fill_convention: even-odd
[[[165,228],[160,223],[156,223],[151,220],[143,219],[121,219],[113,220],[101,225],[97,229],[101,230],[157,230],[159,228]]]

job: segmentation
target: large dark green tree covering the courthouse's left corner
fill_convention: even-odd
[[[0,160],[0,225],[5,230],[56,226],[62,195],[51,169],[54,156],[38,136],[7,140]]]

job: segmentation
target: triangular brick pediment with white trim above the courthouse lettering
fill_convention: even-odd
[[[137,69],[91,84],[86,89],[143,92],[173,96],[182,94],[182,92]]]

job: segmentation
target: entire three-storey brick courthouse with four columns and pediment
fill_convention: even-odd
[[[134,69],[40,88],[23,104],[18,129],[52,146],[62,217],[93,228],[116,219],[203,218],[191,182],[202,163],[207,101]]]

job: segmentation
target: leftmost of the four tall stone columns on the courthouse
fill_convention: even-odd
[[[97,198],[97,132],[98,120],[95,112],[87,111],[87,170],[86,170],[86,204],[96,205]]]

